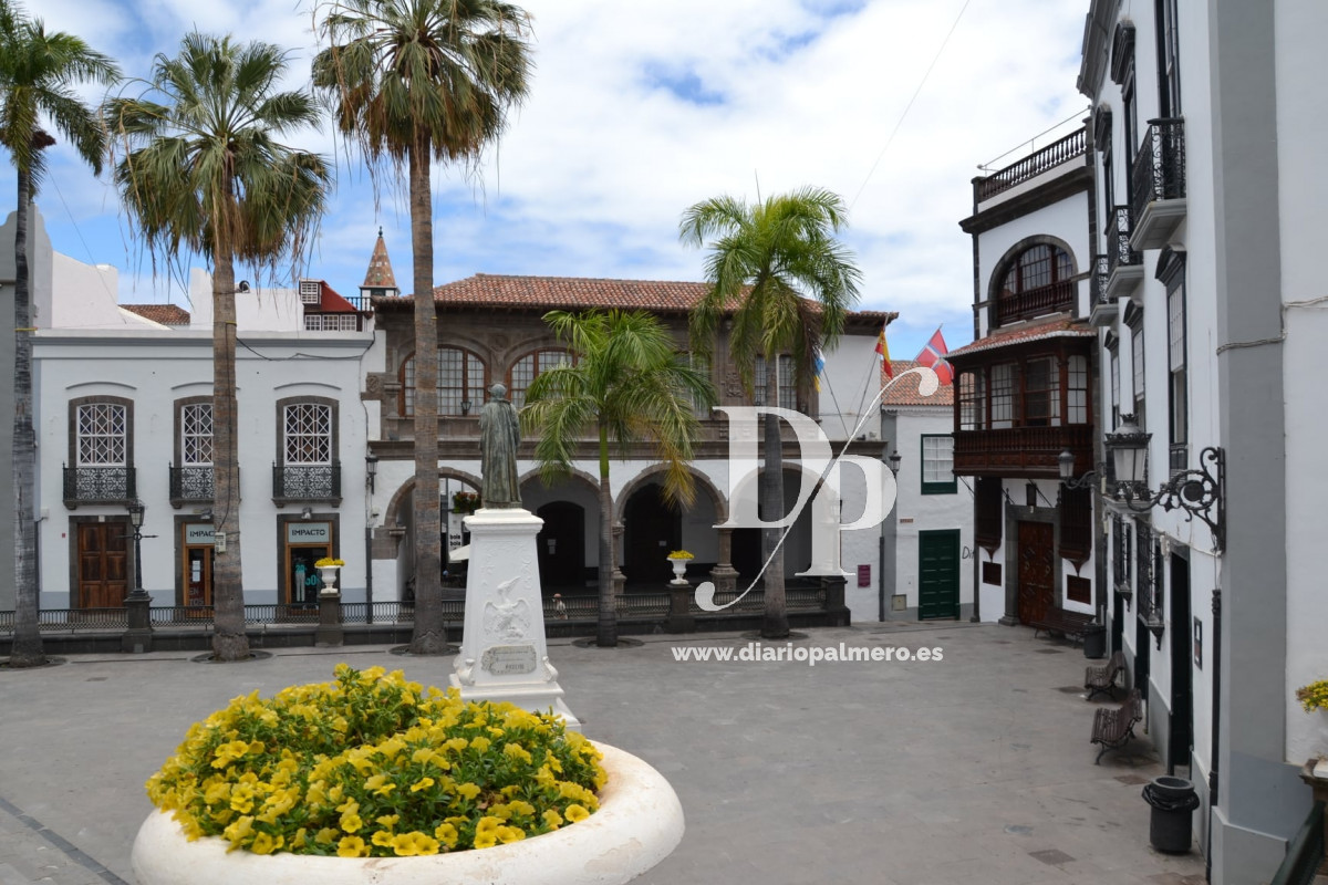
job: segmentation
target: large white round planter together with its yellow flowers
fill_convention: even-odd
[[[141,885],[625,882],[683,833],[659,772],[558,716],[344,663],[195,723],[147,795]]]

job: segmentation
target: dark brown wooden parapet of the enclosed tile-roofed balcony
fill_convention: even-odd
[[[1093,470],[1093,425],[955,431],[955,475],[1056,479],[1057,458],[1074,455],[1074,472]]]

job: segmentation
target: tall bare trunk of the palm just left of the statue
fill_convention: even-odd
[[[414,632],[410,654],[445,654],[442,515],[438,512],[438,310],[433,303],[433,195],[429,145],[410,149],[410,249],[414,269]]]

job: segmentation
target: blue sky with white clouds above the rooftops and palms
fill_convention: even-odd
[[[972,240],[959,220],[979,166],[995,171],[1086,115],[1074,80],[1088,0],[521,5],[533,17],[529,98],[475,170],[433,171],[437,284],[474,273],[699,281],[705,252],[677,236],[687,207],[810,184],[850,207],[857,306],[899,312],[891,356],[911,358],[936,326],[954,349],[972,340]],[[197,28],[290,49],[287,86],[301,88],[317,45],[309,0],[42,0],[28,11],[127,77],[147,76],[153,56],[175,54]],[[80,94],[100,102],[104,90]],[[274,283],[320,277],[357,293],[381,226],[409,293],[404,195],[390,183],[376,194],[329,126],[288,141],[335,161],[337,180],[307,261]],[[0,206],[15,190],[0,165]],[[121,303],[189,308],[154,273],[109,176],[62,143],[37,202],[56,251],[120,268]]]

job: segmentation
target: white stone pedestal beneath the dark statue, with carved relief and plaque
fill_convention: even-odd
[[[527,510],[481,508],[467,516],[466,620],[452,685],[466,701],[506,701],[554,713],[580,731],[563,702],[544,644],[535,535],[544,520]]]

